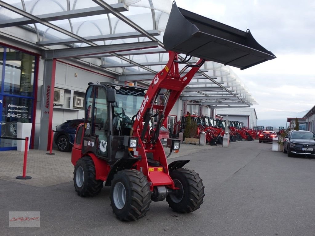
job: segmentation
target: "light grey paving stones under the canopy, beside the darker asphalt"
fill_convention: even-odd
[[[213,149],[218,146],[205,146],[180,144],[180,151],[172,153],[169,159]],[[164,148],[166,155],[169,154],[169,148]],[[0,152],[0,179],[27,184],[35,187],[48,187],[60,183],[66,183],[73,180],[73,165],[71,163],[71,152],[60,152],[57,149],[47,155],[49,151],[30,149],[27,154],[26,176],[31,179],[20,180],[17,176],[23,174],[24,152],[16,150]]]

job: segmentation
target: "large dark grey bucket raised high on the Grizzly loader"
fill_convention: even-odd
[[[276,56],[263,48],[249,30],[241,31],[176,6],[165,28],[166,50],[215,61],[241,70]]]

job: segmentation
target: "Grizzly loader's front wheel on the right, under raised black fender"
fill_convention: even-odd
[[[204,186],[199,174],[184,168],[170,172],[175,187],[180,188],[175,194],[169,194],[166,201],[173,211],[188,213],[196,211],[203,203]]]

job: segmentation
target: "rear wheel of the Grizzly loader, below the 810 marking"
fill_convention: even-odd
[[[77,194],[81,197],[92,197],[100,193],[103,181],[95,179],[95,165],[91,157],[84,156],[77,161],[73,182]]]

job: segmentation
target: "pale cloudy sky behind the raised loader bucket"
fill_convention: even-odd
[[[315,105],[315,1],[176,0],[180,8],[242,31],[276,59],[245,70],[232,67],[258,102],[258,120],[286,119]],[[257,122],[258,123],[258,122]]]

